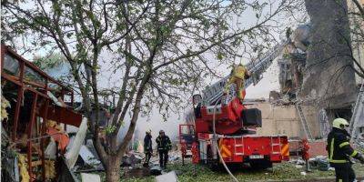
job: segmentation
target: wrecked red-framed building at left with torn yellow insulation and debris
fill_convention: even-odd
[[[80,126],[73,90],[1,45],[2,180],[72,181],[66,126]],[[66,100],[69,104],[66,104]],[[4,150],[4,151],[3,151]]]

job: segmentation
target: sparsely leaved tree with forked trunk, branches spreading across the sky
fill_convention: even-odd
[[[297,5],[295,0],[259,2],[4,1],[2,41],[26,39],[32,47],[56,50],[65,56],[89,119],[92,110],[100,108],[100,55],[116,57],[107,61],[122,75],[122,81],[112,91],[119,98],[106,128],[106,145],[99,138],[97,113],[90,127],[106,168],[106,181],[118,181],[121,157],[140,112],[148,114],[150,108],[158,106],[167,117],[171,110],[177,111],[184,97],[203,85],[205,76],[214,74],[211,65],[247,52],[257,56],[273,45],[275,33],[281,31],[275,17]],[[247,9],[255,19],[242,27],[238,15]],[[25,44],[21,48],[28,47]],[[218,61],[207,60],[211,55]],[[126,119],[130,119],[130,126],[118,144],[117,132]]]

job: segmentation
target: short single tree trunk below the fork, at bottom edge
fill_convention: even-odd
[[[120,181],[120,162],[121,158],[109,156],[106,164],[106,182]]]

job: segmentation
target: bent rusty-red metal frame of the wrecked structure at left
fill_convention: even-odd
[[[72,126],[79,126],[82,120],[71,106],[57,106],[49,92],[61,102],[70,96],[71,104],[74,93],[6,45],[1,45],[1,78],[3,95],[12,101],[9,118],[3,123],[5,132],[10,134],[15,148],[22,143],[19,135],[26,137],[30,181],[45,181],[45,139],[50,137],[46,135],[47,120]],[[33,150],[38,146],[40,154]],[[42,161],[40,170],[34,170],[34,158]],[[36,177],[35,171],[41,171],[41,177]]]

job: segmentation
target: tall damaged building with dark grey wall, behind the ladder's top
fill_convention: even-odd
[[[300,129],[291,135],[314,139],[327,136],[334,118],[351,119],[362,84],[354,68],[364,66],[364,46],[351,41],[350,27],[358,24],[349,18],[348,11],[355,11],[352,2],[306,0],[305,5],[310,23],[288,30],[288,44],[278,59],[280,93],[271,92],[270,101],[273,107],[286,105],[281,112],[292,123],[298,121],[292,125]],[[287,126],[274,132],[288,130],[279,127]]]

